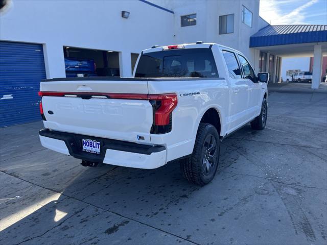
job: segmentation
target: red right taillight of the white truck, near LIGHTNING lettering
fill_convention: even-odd
[[[160,102],[160,107],[155,111],[155,125],[169,125],[170,114],[177,106],[177,95],[175,93],[149,94],[148,100]]]

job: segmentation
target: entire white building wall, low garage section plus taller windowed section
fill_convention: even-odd
[[[259,17],[259,0],[151,2],[174,14],[135,0],[12,0],[0,14],[0,39],[43,44],[48,78],[65,77],[63,46],[120,52],[123,77],[131,76],[131,53],[199,40],[235,48],[258,66],[259,52],[249,48],[249,39],[267,24]],[[241,21],[242,5],[253,14],[252,28]],[[193,13],[196,26],[181,27],[180,16]],[[226,14],[234,14],[234,32],[219,35],[219,16]]]

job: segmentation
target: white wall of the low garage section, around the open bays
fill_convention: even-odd
[[[171,43],[173,20],[139,1],[12,1],[0,14],[0,39],[42,43],[48,78],[65,77],[63,46],[121,52],[121,76],[130,77],[130,53]]]

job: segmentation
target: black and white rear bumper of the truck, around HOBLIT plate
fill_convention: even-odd
[[[41,144],[75,158],[136,168],[157,168],[166,164],[166,148],[162,145],[144,145],[127,141],[91,137],[44,129],[39,132]],[[101,143],[100,155],[82,151],[82,139],[94,139]]]

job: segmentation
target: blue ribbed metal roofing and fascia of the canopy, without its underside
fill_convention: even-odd
[[[250,47],[327,42],[327,25],[283,24],[267,26],[250,37]]]

